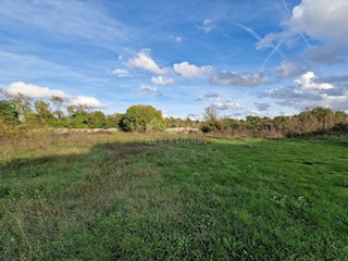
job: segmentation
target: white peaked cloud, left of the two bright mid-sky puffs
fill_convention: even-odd
[[[142,49],[138,52],[136,58],[128,60],[128,65],[132,67],[138,67],[154,74],[165,74],[166,70],[161,69],[154,60],[151,58],[151,52],[148,49]]]

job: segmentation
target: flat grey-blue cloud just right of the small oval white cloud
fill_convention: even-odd
[[[266,78],[262,73],[235,73],[223,71],[211,76],[210,83],[213,85],[253,87],[265,84]]]

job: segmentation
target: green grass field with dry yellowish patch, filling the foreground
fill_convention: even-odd
[[[347,136],[1,141],[0,260],[347,257]]]

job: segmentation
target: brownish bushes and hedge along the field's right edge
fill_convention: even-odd
[[[348,115],[328,108],[314,108],[294,116],[217,120],[216,111],[208,108],[200,129],[203,133],[214,132],[231,136],[298,137],[326,132],[348,132]]]

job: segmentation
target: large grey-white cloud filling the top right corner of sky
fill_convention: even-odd
[[[272,48],[276,42],[290,45],[302,38],[308,48],[301,59],[312,64],[341,62],[343,54],[348,51],[348,27],[344,26],[347,16],[347,0],[302,0],[293,9],[290,18],[283,23],[284,30],[266,35],[257,48]],[[311,47],[307,36],[321,44]]]

